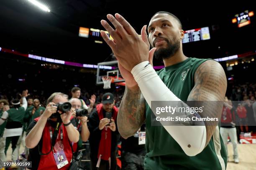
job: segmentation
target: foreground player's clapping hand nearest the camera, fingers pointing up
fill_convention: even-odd
[[[115,29],[105,20],[101,20],[101,24],[115,41],[110,40],[104,31],[101,31],[101,35],[112,49],[119,64],[122,65],[125,70],[131,72],[133,67],[137,64],[148,61],[148,43],[142,40],[130,23],[119,14],[115,14],[115,17],[108,14],[107,18],[114,25]]]

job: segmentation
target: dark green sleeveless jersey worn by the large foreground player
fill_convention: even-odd
[[[206,60],[209,59],[188,58],[161,69],[157,74],[180,100],[187,101],[195,85],[195,71]],[[151,113],[152,110],[146,103],[145,170],[225,170],[227,155],[218,126],[206,148],[190,157],[163,126],[151,126]]]

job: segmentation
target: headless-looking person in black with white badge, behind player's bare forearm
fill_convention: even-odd
[[[139,142],[141,132],[145,133],[145,124],[133,136],[127,139],[121,138],[122,170],[144,170],[146,149],[145,143]]]

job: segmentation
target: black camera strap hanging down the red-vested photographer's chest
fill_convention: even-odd
[[[42,153],[40,151],[40,146],[38,145],[38,153],[39,155],[48,155],[54,148],[58,133],[59,133],[59,128],[61,126],[61,122],[57,122],[56,124],[56,128],[54,129],[54,133],[52,134],[52,130],[51,130],[51,126],[49,126],[49,132],[50,132],[50,137],[51,137],[51,149],[49,150],[48,153]],[[61,140],[63,140],[63,132],[62,132],[62,128],[61,128]]]

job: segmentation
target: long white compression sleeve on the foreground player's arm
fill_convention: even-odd
[[[148,61],[141,62],[133,67],[131,73],[138,83],[149,107],[151,107],[151,101],[181,101],[166,87],[152,65],[148,65]],[[184,105],[186,104],[184,103]],[[204,149],[206,142],[205,126],[173,125],[163,127],[187,155],[195,156]]]

